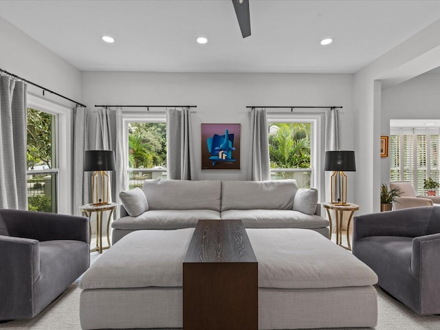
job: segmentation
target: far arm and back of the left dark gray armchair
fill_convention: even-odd
[[[76,215],[0,210],[10,236],[37,241],[74,240],[89,243],[89,219]]]

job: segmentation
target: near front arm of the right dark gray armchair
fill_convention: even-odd
[[[440,306],[440,234],[412,240],[411,270],[419,278],[421,314],[437,313]]]

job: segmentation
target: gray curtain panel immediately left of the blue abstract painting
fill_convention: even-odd
[[[195,179],[190,108],[166,109],[166,167],[168,179]]]

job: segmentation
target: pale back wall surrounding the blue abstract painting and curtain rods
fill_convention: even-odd
[[[82,85],[83,101],[91,112],[89,136],[92,138],[95,104],[197,105],[192,127],[196,150],[200,148],[202,122],[241,123],[241,170],[199,169],[197,179],[248,179],[247,105],[342,106],[341,147],[354,148],[353,75],[350,74],[83,72]],[[201,168],[200,162],[198,153],[197,168]]]

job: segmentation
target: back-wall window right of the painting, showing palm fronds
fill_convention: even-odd
[[[318,185],[319,118],[267,115],[271,179],[296,179],[298,188]]]

